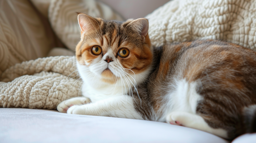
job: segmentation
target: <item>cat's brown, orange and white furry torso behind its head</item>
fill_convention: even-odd
[[[244,132],[243,109],[256,104],[256,53],[217,40],[168,44],[156,49],[145,88],[154,120],[173,111],[195,113],[234,137]]]

